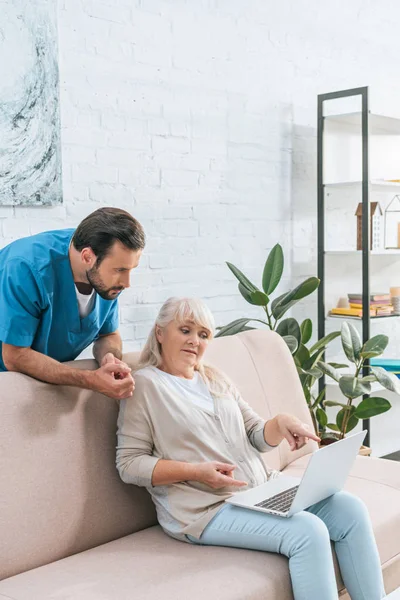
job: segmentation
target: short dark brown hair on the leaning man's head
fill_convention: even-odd
[[[142,250],[146,242],[139,221],[120,208],[106,207],[95,210],[83,219],[72,237],[76,250],[93,250],[97,257],[97,266],[116,241],[129,250]]]

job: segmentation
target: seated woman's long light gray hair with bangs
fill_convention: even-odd
[[[157,340],[156,328],[163,329],[169,323],[191,321],[209,332],[214,337],[215,322],[208,306],[199,298],[168,298],[160,308],[149,337],[140,354],[139,369],[148,366],[159,367],[162,363],[161,344]],[[199,372],[210,391],[216,396],[223,396],[232,390],[232,384],[218,369],[199,361],[195,370]]]

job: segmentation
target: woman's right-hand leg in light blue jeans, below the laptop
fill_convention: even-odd
[[[339,492],[308,509],[327,526],[340,571],[352,600],[385,597],[381,561],[365,504]]]

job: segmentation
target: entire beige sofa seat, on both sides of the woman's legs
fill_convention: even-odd
[[[301,475],[308,460],[296,460],[285,473]],[[358,457],[346,484],[370,511],[387,592],[400,585],[398,467]],[[338,585],[343,588],[340,578]],[[4,580],[0,594],[12,600],[293,599],[283,556],[187,545],[167,537],[158,526]],[[348,599],[343,590],[342,595]]]

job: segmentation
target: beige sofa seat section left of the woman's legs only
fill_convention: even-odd
[[[0,582],[12,600],[292,600],[279,555],[192,546],[151,527]]]

